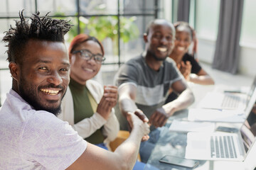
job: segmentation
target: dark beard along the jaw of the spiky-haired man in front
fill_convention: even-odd
[[[28,102],[36,111],[48,111],[53,113],[54,115],[58,115],[61,111],[60,106],[57,108],[43,106],[39,103],[39,98],[36,96],[36,87],[29,86],[28,89],[23,89],[23,87],[27,86],[25,80],[21,78],[20,84],[18,86],[21,97]],[[54,85],[49,85],[53,87]],[[64,96],[64,95],[63,95]],[[62,99],[62,98],[61,98]]]

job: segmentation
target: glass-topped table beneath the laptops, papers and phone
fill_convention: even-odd
[[[216,86],[201,86],[193,84],[191,86],[193,93],[195,95],[196,101],[193,103],[192,106],[189,108],[196,107],[197,103],[206,95],[208,91],[213,91],[216,89]],[[189,109],[188,108],[188,109]],[[161,157],[164,155],[169,154],[174,157],[185,157],[186,153],[186,137],[187,132],[175,132],[170,131],[169,126],[173,122],[173,120],[187,120],[188,118],[188,109],[184,109],[182,111],[176,112],[173,116],[169,118],[166,125],[162,128],[159,128],[160,137],[159,140],[156,142],[156,146],[154,147],[151,155],[149,157],[148,162],[144,170],[176,170],[176,169],[190,169],[183,166],[176,166],[173,164],[165,164],[159,162]],[[228,126],[232,128],[239,128],[242,123],[215,123],[215,127],[221,126]],[[197,160],[199,162],[198,166],[194,169],[198,170],[222,170],[222,169],[254,169],[256,166],[256,145],[252,147],[250,154],[246,157],[244,162],[233,162],[233,161],[208,161],[208,160]]]

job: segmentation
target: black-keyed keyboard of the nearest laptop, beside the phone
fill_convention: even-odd
[[[211,136],[210,157],[237,158],[233,136]]]

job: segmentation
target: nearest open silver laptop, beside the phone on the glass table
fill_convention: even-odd
[[[186,159],[244,161],[255,145],[255,135],[246,123],[237,133],[188,132]]]

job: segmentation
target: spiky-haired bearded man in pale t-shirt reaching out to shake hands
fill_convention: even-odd
[[[0,111],[0,169],[132,169],[149,132],[147,119],[139,111],[129,114],[132,132],[115,152],[82,140],[59,120],[69,83],[63,36],[70,24],[38,15],[28,22],[21,12],[3,38],[13,83]]]

